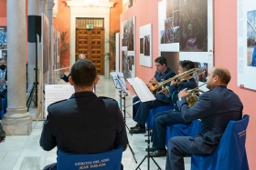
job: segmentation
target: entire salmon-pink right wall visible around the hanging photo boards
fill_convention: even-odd
[[[149,3],[150,2],[150,3]],[[120,22],[127,20],[133,15],[136,16],[136,49],[139,49],[139,27],[149,23],[153,24],[153,61],[158,56],[158,2],[140,0],[131,8],[126,10],[120,17]],[[256,169],[256,162],[253,161],[256,155],[256,115],[255,102],[256,91],[240,88],[237,85],[237,1],[213,1],[214,2],[214,63],[215,65],[223,65],[229,68],[232,79],[229,83],[229,89],[240,95],[240,99],[244,105],[243,114],[250,115],[250,123],[247,129],[247,156],[250,169]],[[135,52],[136,57],[136,76],[147,82],[155,73],[155,65],[148,68],[139,65],[139,50]],[[146,74],[144,74],[146,73]],[[251,75],[248,75],[251,76]],[[254,76],[251,78],[255,77]]]

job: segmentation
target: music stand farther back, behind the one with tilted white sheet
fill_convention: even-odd
[[[123,109],[123,120],[124,120],[124,124],[125,124],[125,126],[126,126],[126,128],[128,129],[128,132],[129,132],[129,127],[126,125],[126,119],[125,119],[125,113],[126,113],[126,110],[125,110],[125,97],[128,95],[128,93],[127,93],[127,91],[126,91],[126,85],[125,84],[123,84],[123,80],[124,80],[124,78],[123,78],[123,80],[121,80],[120,79],[120,76],[118,75],[118,74],[121,74],[121,77],[123,77],[122,75],[123,75],[123,73],[116,73],[116,72],[112,72],[111,73],[111,75],[112,75],[112,80],[113,80],[113,83],[114,83],[114,86],[115,86],[115,88],[117,88],[117,89],[121,89],[120,91],[119,91],[119,93],[120,93],[120,110],[121,110],[121,112],[122,112],[122,99],[123,99],[123,107],[124,107],[124,109]],[[124,82],[125,83],[125,82]],[[122,93],[124,93],[124,95],[122,96]],[[131,134],[131,135],[133,135],[133,134]],[[134,160],[135,160],[135,163],[137,164],[137,160],[136,160],[136,158],[135,158],[135,153],[133,152],[133,149],[132,149],[132,147],[131,147],[131,145],[129,144],[129,140],[127,141],[127,145],[129,146],[129,148],[130,148],[130,151],[131,151],[131,153],[132,153],[132,155],[133,155],[133,158],[134,158]]]

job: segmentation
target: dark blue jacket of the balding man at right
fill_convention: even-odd
[[[177,100],[177,106],[185,121],[201,119],[200,133],[191,137],[194,146],[202,153],[212,154],[219,144],[230,120],[240,120],[243,105],[240,97],[226,85],[219,85],[200,95],[192,107],[187,105],[187,97]]]

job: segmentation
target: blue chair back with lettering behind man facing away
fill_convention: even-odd
[[[97,154],[72,154],[58,150],[57,170],[120,170],[123,146]],[[97,167],[97,168],[96,168]]]

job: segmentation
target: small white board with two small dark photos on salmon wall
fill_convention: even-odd
[[[140,65],[152,67],[152,24],[140,26]]]

